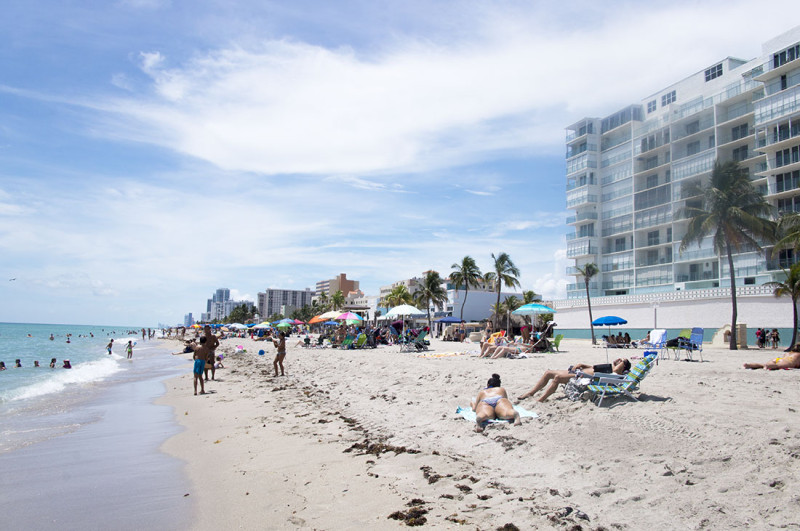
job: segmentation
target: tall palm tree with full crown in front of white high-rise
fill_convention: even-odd
[[[744,247],[761,251],[757,239],[774,239],[775,223],[768,219],[772,207],[750,183],[748,170],[740,167],[736,161],[724,164],[717,161],[707,185],[695,183],[687,190],[690,197],[702,196],[703,204],[700,207],[686,206],[681,211],[689,219],[689,226],[681,240],[680,252],[694,242],[700,247],[706,236],[713,235],[714,251],[719,256],[727,255],[732,306],[730,349],[736,350],[738,311],[733,251],[740,252]]]

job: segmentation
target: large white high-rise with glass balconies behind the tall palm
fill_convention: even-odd
[[[633,73],[631,73],[633,75]],[[737,161],[778,211],[800,211],[800,27],[749,61],[725,58],[604,118],[567,128],[567,257],[597,265],[593,296],[730,286],[710,238],[679,252],[699,207],[692,185]],[[765,242],[766,243],[766,242]],[[795,258],[771,248],[734,256],[737,286],[771,281]],[[578,276],[568,298],[585,297]]]

